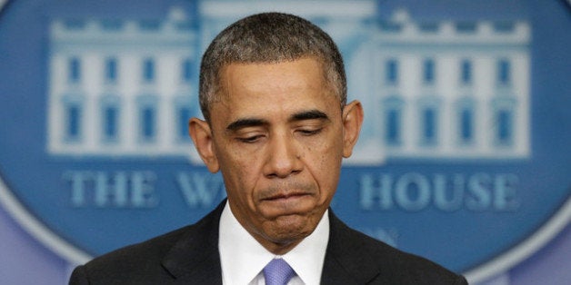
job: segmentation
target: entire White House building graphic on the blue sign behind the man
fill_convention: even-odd
[[[241,16],[302,15],[346,59],[366,107],[353,164],[390,159],[526,159],[530,155],[526,21],[379,19],[374,1],[205,1],[198,17],[56,18],[49,30],[47,151],[72,156],[191,156],[197,70],[206,44]],[[323,6],[327,6],[324,9]]]

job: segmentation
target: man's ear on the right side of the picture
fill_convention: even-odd
[[[363,106],[358,101],[346,104],[343,108],[343,157],[353,153],[353,147],[361,133],[363,125]]]

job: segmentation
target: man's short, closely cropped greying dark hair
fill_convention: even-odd
[[[343,58],[333,39],[316,25],[296,15],[262,13],[229,25],[208,46],[200,64],[199,100],[210,122],[211,104],[220,100],[220,72],[227,64],[280,63],[315,57],[326,82],[346,104]]]

